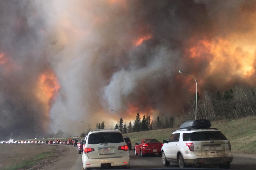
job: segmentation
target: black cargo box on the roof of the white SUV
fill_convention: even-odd
[[[200,128],[209,128],[211,127],[211,123],[209,120],[200,119],[200,120],[190,120],[182,125],[180,125],[180,129],[200,129]]]

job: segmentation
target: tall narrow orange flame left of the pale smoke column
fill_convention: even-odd
[[[47,110],[49,110],[50,101],[55,99],[59,88],[60,85],[57,77],[52,71],[48,71],[39,76],[36,95],[40,101],[47,105]]]

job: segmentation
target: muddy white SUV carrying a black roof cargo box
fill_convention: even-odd
[[[162,161],[165,166],[170,162],[178,163],[180,168],[188,165],[219,165],[230,168],[233,160],[228,139],[208,120],[187,121],[180,129],[164,140]]]

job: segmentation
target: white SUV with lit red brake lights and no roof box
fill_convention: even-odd
[[[128,146],[119,130],[91,130],[83,145],[83,169],[119,166],[130,168]]]

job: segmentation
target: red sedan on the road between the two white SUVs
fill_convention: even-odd
[[[145,156],[146,154],[155,154],[158,153],[161,156],[161,148],[163,143],[159,142],[156,139],[142,139],[140,143],[135,143],[134,153],[141,156]]]

